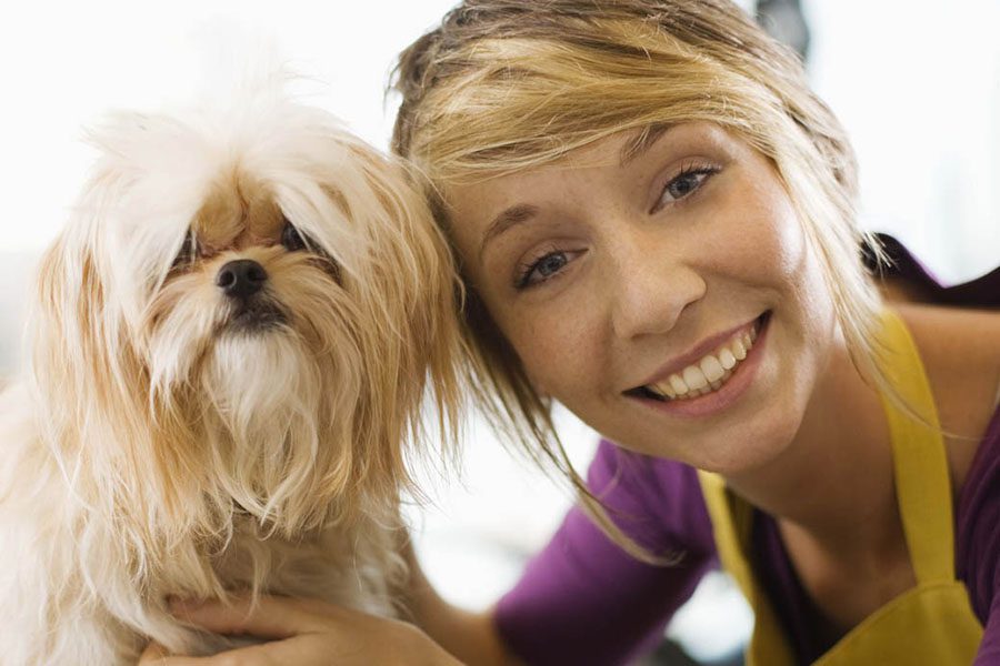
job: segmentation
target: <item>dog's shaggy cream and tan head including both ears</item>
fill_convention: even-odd
[[[67,466],[147,525],[291,534],[394,502],[426,380],[457,403],[456,280],[402,170],[268,95],[97,143],[34,314]]]

